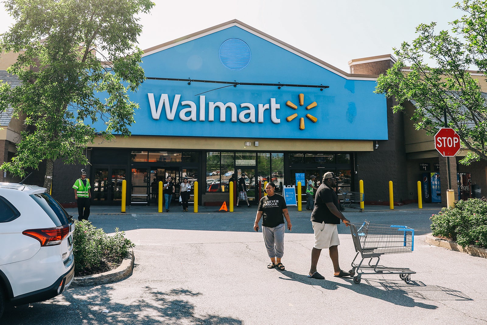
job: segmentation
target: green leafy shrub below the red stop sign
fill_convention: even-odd
[[[455,208],[443,208],[431,215],[433,236],[445,237],[466,247],[487,248],[487,200],[468,199],[455,203]]]

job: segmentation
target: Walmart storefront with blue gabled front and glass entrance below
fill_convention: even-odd
[[[249,196],[259,181],[294,185],[296,173],[328,171],[353,191],[357,155],[388,139],[374,76],[347,74],[237,20],[150,48],[142,66],[132,136],[87,153],[94,203],[117,204],[126,179],[127,202],[150,204],[151,183],[167,175],[198,180],[203,204],[223,201],[241,172]]]

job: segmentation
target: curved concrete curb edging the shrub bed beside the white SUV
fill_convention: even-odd
[[[129,256],[122,261],[118,268],[99,274],[75,277],[71,287],[97,286],[123,280],[132,274],[134,259],[133,249],[131,249]]]

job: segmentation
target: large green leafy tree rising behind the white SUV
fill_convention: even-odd
[[[130,135],[134,110],[128,91],[144,81],[143,51],[135,44],[150,0],[6,0],[15,19],[0,35],[0,53],[19,53],[7,72],[21,85],[0,83],[0,112],[13,109],[24,129],[11,162],[0,169],[23,176],[46,161],[50,188],[54,160],[88,164],[95,138]],[[103,99],[100,99],[103,98]],[[105,130],[92,124],[103,121]]]

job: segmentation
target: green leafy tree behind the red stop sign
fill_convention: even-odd
[[[485,80],[487,72],[487,1],[465,0],[454,8],[464,15],[450,22],[451,32],[435,33],[435,22],[420,24],[419,37],[394,49],[398,61],[379,76],[375,92],[397,100],[394,113],[412,101],[414,126],[429,135],[445,127],[446,115],[448,127],[468,149],[460,162],[469,164],[487,160],[487,94],[478,79]],[[407,64],[409,71],[404,71]]]

